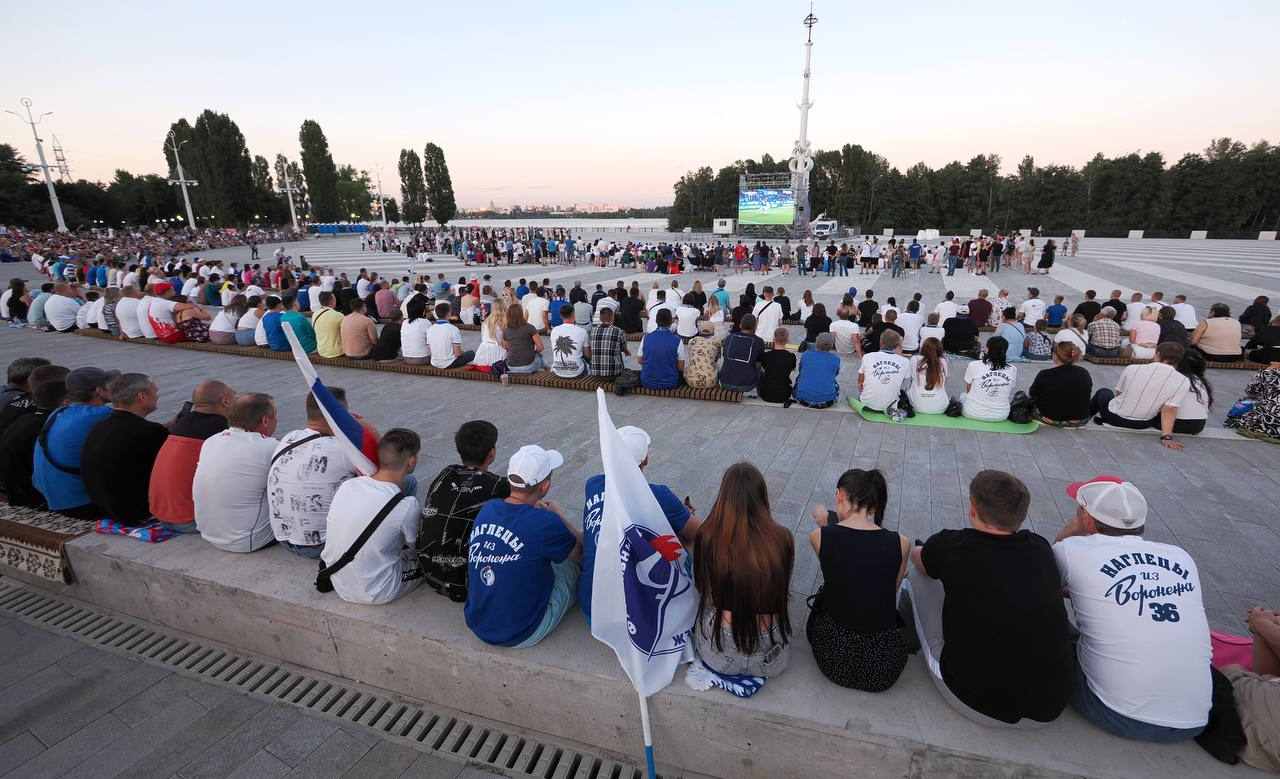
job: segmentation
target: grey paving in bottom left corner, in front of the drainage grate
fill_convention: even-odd
[[[8,617],[0,659],[0,776],[498,776]]]

